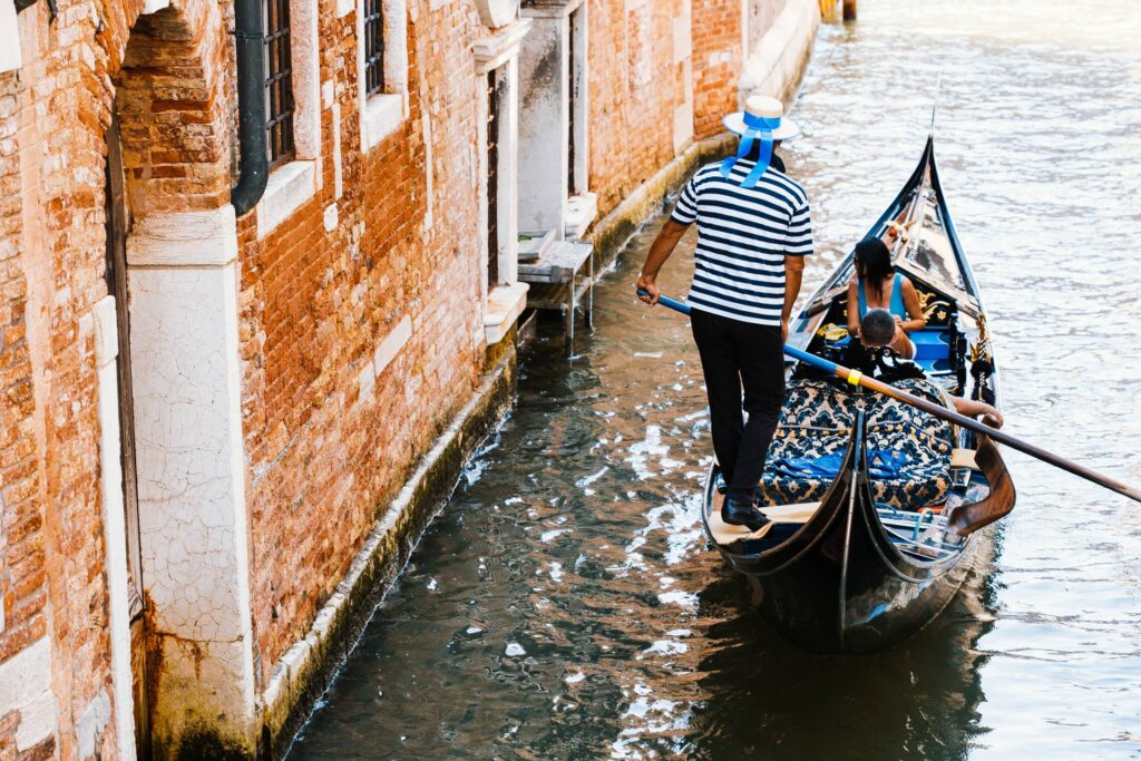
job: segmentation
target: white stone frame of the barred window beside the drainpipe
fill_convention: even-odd
[[[269,235],[321,187],[321,41],[313,0],[285,0],[293,67],[293,157],[269,171],[257,205],[258,238]]]

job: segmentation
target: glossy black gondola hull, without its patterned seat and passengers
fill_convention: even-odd
[[[972,351],[986,362],[970,361],[974,380],[970,396],[1001,407],[982,300],[946,205],[930,137],[915,171],[867,236],[882,240],[889,237],[889,230],[900,244],[897,268],[924,290],[933,305],[942,302],[954,311],[941,319],[946,321],[948,346],[961,348],[948,350],[948,366],[938,369],[939,373],[954,382],[954,392],[968,395],[966,343],[973,334]],[[834,307],[847,298],[853,257],[852,252],[844,258],[800,311],[788,334],[790,346],[812,350],[814,340],[825,335],[820,329],[826,319],[842,322],[845,314],[837,317]],[[974,327],[962,318],[973,318]],[[953,343],[950,337],[956,332],[957,342]],[[796,371],[795,365],[790,367],[791,374]],[[957,436],[957,447],[979,458],[977,467],[968,468],[970,473],[958,484],[954,499],[944,504],[947,516],[954,519],[961,508],[976,508],[982,518],[1005,515],[1013,507],[1014,491],[997,450],[971,435]],[[804,523],[778,523],[760,540],[741,539],[719,521],[714,521],[715,533],[710,516],[720,510],[722,497],[714,488],[718,476],[714,464],[705,491],[706,535],[750,578],[761,615],[802,647],[863,653],[896,645],[931,623],[974,568],[979,542],[970,535],[956,543],[957,528],[947,529],[938,542],[932,537],[929,545],[914,536],[892,536],[891,531],[904,527],[899,521],[919,520],[926,503],[900,507],[888,521],[890,528],[881,520],[868,476],[863,414],[852,428],[839,476]],[[985,509],[980,507],[984,501],[988,501]],[[803,520],[804,505],[770,507],[793,508],[786,513],[788,520]],[[965,519],[965,513],[960,517]]]

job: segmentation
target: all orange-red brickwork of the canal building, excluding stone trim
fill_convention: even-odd
[[[702,137],[736,105],[739,6],[691,3]],[[318,187],[266,235],[254,213],[237,226],[260,685],[470,398],[485,358],[485,80],[472,43],[487,30],[469,0],[408,0],[407,115],[365,153],[356,17],[338,5],[317,2]],[[590,0],[590,187],[602,213],[677,153],[686,68],[674,19],[688,5]],[[136,221],[217,209],[233,180],[232,5],[175,0],[139,17],[140,6],[60,0],[49,22],[37,3],[21,15],[24,67],[0,74],[0,669],[48,643],[55,727],[17,748],[25,717],[0,710],[2,759],[118,752],[91,318],[107,292],[112,114]]]

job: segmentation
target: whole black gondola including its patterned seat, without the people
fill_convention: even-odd
[[[931,138],[867,234],[888,243],[928,318],[912,339],[929,380],[907,381],[907,390],[944,404],[954,394],[1001,407],[986,311],[947,211]],[[792,321],[790,346],[839,356],[850,340],[843,326],[853,268],[849,253]],[[818,651],[890,647],[932,622],[958,591],[980,534],[961,533],[956,517],[1009,512],[1010,476],[986,437],[844,388],[801,363],[790,361],[786,378],[760,485],[772,524],[750,533],[721,521],[723,479],[714,462],[705,533],[748,577],[762,617],[785,638]]]

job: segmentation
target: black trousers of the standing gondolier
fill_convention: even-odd
[[[751,501],[784,404],[780,329],[697,309],[689,319],[710,398],[713,451],[729,496]],[[747,422],[742,414],[742,389]]]

